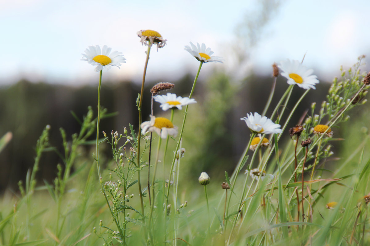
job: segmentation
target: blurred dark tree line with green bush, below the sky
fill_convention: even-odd
[[[192,75],[185,75],[173,82],[174,89],[163,93],[188,96],[193,79]],[[150,114],[149,90],[157,82],[148,82],[145,88],[142,111],[144,120],[148,120]],[[272,76],[259,77],[253,74],[242,81],[234,82],[219,72],[213,73],[207,81],[198,81],[193,96],[198,103],[189,107],[189,118],[182,143],[186,148],[186,158],[182,160],[182,167],[185,168],[187,175],[196,177],[201,171],[207,171],[214,177],[221,177],[225,170],[231,172],[234,169],[250,134],[245,122],[240,118],[249,112],[262,112],[272,82]],[[325,100],[329,86],[329,83],[321,81],[316,90],[311,90],[307,94],[288,128],[297,123],[313,101],[319,104]],[[273,106],[277,104],[287,87],[285,79],[279,77],[272,101]],[[124,127],[128,128],[129,123],[137,129],[135,101],[139,90],[137,84],[129,81],[117,84],[103,83],[102,107],[107,108],[108,112],[117,114],[101,121],[101,131],[109,135],[111,130],[123,133]],[[303,92],[304,90],[299,87],[294,88],[287,110],[293,107]],[[72,134],[80,131],[80,124],[74,119],[71,111],[82,119],[90,105],[96,113],[97,86],[68,87],[21,80],[11,86],[0,88],[0,136],[8,131],[13,133],[13,139],[0,153],[0,191],[6,187],[17,190],[17,182],[25,179],[27,170],[33,166],[34,146],[46,125],[51,126],[51,145],[61,151],[63,147],[59,128],[64,128],[67,136],[71,138]],[[154,114],[169,117],[169,112],[163,112],[158,103],[154,104]],[[270,114],[271,111],[268,111],[266,116]],[[181,126],[181,122],[182,112],[177,112],[174,123]],[[287,130],[283,134],[288,138]],[[85,154],[91,157],[91,160],[94,146],[93,144],[85,147]],[[44,153],[38,180],[53,180],[58,163],[62,162],[55,152]]]

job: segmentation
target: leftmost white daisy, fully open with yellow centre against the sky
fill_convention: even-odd
[[[97,66],[95,67],[95,72],[99,72],[103,68],[105,71],[108,71],[111,66],[120,68],[121,62],[125,63],[126,58],[124,58],[122,52],[111,51],[112,48],[108,48],[107,45],[104,45],[102,50],[99,45],[89,46],[89,48],[85,50],[85,53],[81,54],[84,56],[81,60],[86,60],[92,66]]]

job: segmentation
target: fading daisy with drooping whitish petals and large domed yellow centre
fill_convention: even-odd
[[[169,119],[163,117],[155,117],[153,115],[150,116],[150,121],[142,122],[140,127],[142,129],[142,134],[144,135],[145,132],[157,132],[161,138],[167,138],[167,135],[170,136],[177,136],[177,127],[172,124]]]

